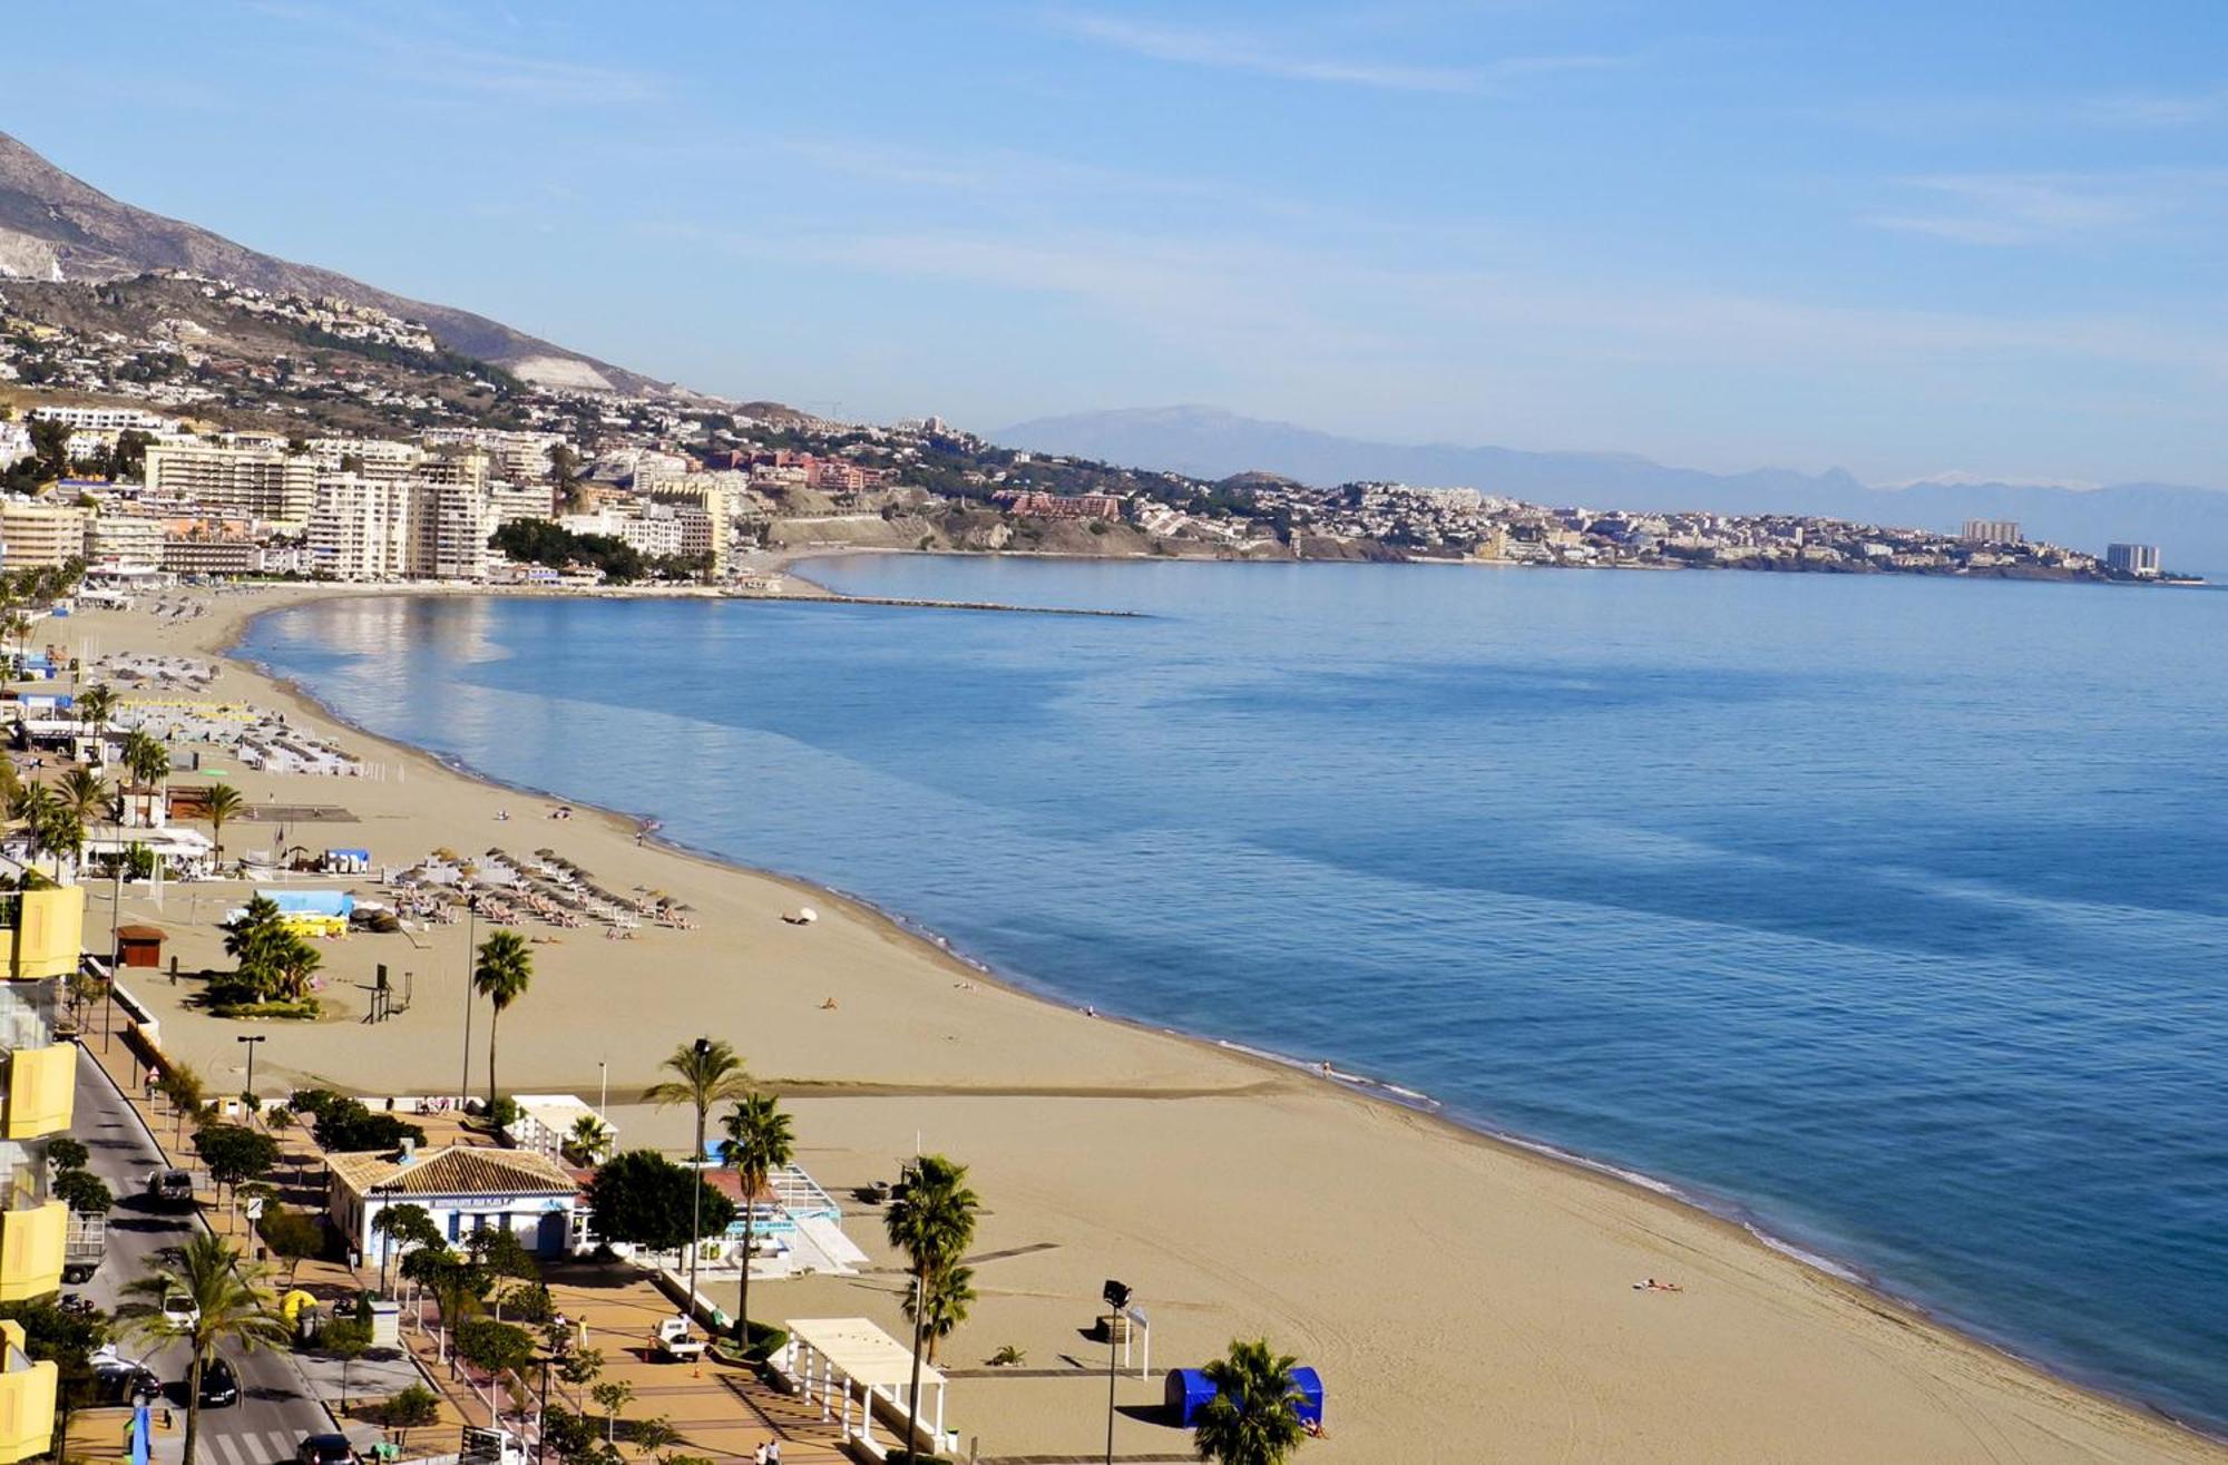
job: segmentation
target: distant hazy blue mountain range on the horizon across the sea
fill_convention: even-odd
[[[2175,483],[2072,490],[2036,483],[1874,488],[1834,468],[1713,474],[1609,452],[1519,452],[1444,443],[1370,443],[1214,407],[1136,407],[1045,416],[991,434],[1032,452],[1105,459],[1205,479],[1274,472],[1301,483],[1395,479],[1464,485],[1533,503],[1736,514],[1818,514],[1954,532],[1967,519],[2016,519],[2030,539],[2101,552],[2114,539],[2154,543],[2170,570],[2228,570],[2228,492]]]

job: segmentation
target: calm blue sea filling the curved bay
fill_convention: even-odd
[[[247,652],[1069,1002],[1430,1093],[2228,1423],[2228,594],[862,557]]]

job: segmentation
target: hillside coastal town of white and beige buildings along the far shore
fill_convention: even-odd
[[[564,374],[559,374],[561,378]],[[341,298],[187,272],[0,289],[0,568],[782,588],[829,550],[1459,561],[2159,583],[2070,548],[1798,514],[1537,505],[1491,488],[1201,481],[680,390],[532,383]]]

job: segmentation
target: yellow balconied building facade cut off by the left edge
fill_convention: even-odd
[[[0,1302],[20,1302],[62,1285],[69,1207],[51,1193],[47,1140],[69,1133],[78,1049],[56,1040],[53,1020],[85,944],[85,891],[0,895]],[[0,1323],[0,1465],[53,1443],[53,1392],[56,1367]]]

